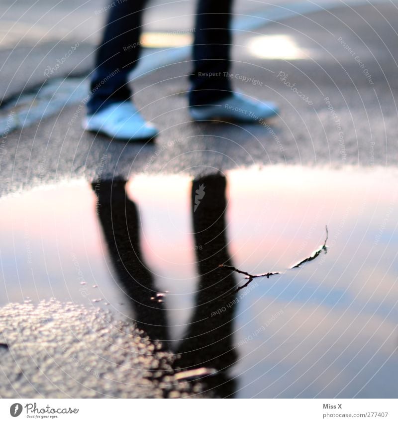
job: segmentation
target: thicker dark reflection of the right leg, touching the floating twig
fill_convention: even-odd
[[[218,395],[223,397],[234,392],[234,383],[228,380],[226,370],[236,361],[232,347],[235,279],[218,267],[231,264],[226,247],[225,188],[225,178],[220,175],[196,179],[193,183],[192,210],[200,281],[192,323],[179,347],[181,358],[176,363],[182,369],[205,366],[219,370],[218,376],[207,378],[207,384],[217,386]],[[219,312],[221,309],[225,311]]]

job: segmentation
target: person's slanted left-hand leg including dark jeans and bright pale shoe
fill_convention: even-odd
[[[111,3],[103,39],[97,50],[91,97],[83,128],[123,141],[150,140],[158,134],[131,101],[128,74],[140,52],[142,10],[146,0]]]

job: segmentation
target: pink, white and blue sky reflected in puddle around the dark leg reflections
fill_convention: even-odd
[[[238,396],[397,397],[395,176],[385,169],[282,166],[227,175],[228,248],[235,266],[283,271],[322,245],[325,224],[329,228],[326,255],[257,280],[239,301],[234,339],[240,360],[232,370],[240,375]],[[145,261],[159,289],[170,291],[175,337],[189,320],[197,283],[190,189],[184,176],[138,175],[127,185],[140,211]],[[3,303],[27,296],[85,304],[103,298],[96,305],[107,301],[108,308],[125,312],[86,183],[3,198],[0,212]],[[87,298],[72,253],[87,281]],[[279,310],[283,314],[267,325]]]

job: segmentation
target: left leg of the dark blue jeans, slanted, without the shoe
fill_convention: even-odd
[[[89,114],[105,104],[131,97],[127,77],[140,52],[141,17],[145,3],[146,0],[115,0],[108,10],[91,78],[91,98],[87,103]]]

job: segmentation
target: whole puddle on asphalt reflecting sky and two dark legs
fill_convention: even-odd
[[[55,297],[172,340],[219,395],[398,394],[398,188],[386,169],[135,175],[0,199],[0,301]],[[195,211],[194,211],[195,210]],[[309,257],[325,240],[315,260]],[[282,272],[255,278],[244,275]]]

